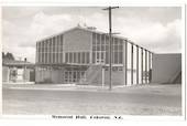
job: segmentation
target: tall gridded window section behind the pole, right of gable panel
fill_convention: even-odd
[[[92,33],[92,63],[109,64],[109,36],[106,34]],[[123,40],[112,38],[112,64],[123,63]]]

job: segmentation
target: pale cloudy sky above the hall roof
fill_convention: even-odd
[[[35,62],[36,41],[45,36],[77,24],[108,32],[108,11],[103,8],[3,7],[2,51]],[[154,53],[180,53],[182,8],[120,7],[112,10],[112,32]]]

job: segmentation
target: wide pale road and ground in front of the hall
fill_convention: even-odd
[[[2,90],[3,114],[180,115],[180,85],[100,90]]]

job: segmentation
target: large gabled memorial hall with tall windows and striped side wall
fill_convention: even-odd
[[[112,84],[148,83],[152,53],[112,36]],[[76,27],[36,42],[36,83],[109,84],[109,35]]]

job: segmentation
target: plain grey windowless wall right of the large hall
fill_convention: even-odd
[[[173,83],[182,72],[182,54],[153,54],[152,83]]]

